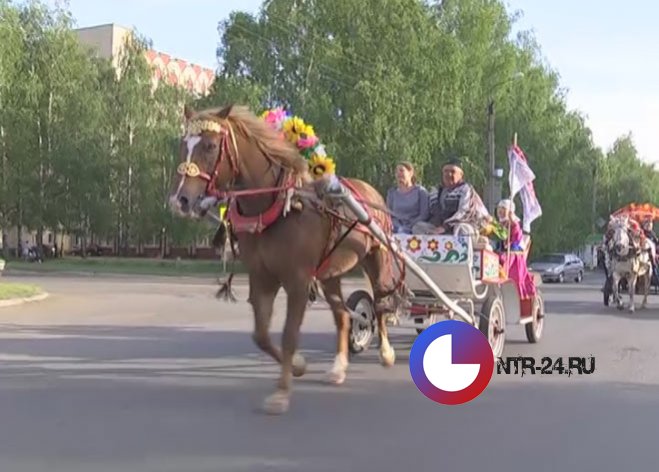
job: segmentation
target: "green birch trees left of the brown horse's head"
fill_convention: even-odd
[[[0,12],[0,227],[118,249],[180,234],[189,224],[165,203],[191,98],[153,90],[148,41],[128,36],[115,68],[80,43],[65,10],[0,1]]]

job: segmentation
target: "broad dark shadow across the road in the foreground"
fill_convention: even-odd
[[[562,453],[536,460],[535,471],[619,470],[629,457],[638,465],[655,460],[657,388],[522,382],[445,407],[411,382],[349,380],[298,387],[289,414],[273,418],[256,410],[271,387],[69,378],[19,389],[3,380],[0,468],[27,470],[2,465],[30,461],[57,472],[436,470],[443,451],[442,469],[510,472],[526,470],[548,448]],[[433,447],[416,440],[433,436],[441,436]]]

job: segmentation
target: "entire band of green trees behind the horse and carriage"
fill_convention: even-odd
[[[0,0],[0,226],[111,238],[118,248],[207,237],[165,204],[185,102],[257,113],[288,105],[339,173],[382,192],[401,160],[431,187],[459,155],[485,196],[492,100],[497,166],[507,171],[517,133],[538,177],[534,251],[575,248],[599,218],[655,202],[659,179],[631,136],[608,152],[594,146],[533,36],[512,37],[515,20],[499,0],[267,0],[256,16],[219,23],[220,68],[211,93],[194,99],[152,89],[146,38],[132,37],[116,71],[79,44],[68,12]]]

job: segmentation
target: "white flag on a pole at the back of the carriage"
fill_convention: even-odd
[[[531,223],[542,215],[540,202],[535,195],[533,181],[535,174],[529,167],[526,156],[518,146],[511,146],[508,150],[508,162],[510,164],[510,198],[513,200],[519,193],[522,200],[523,230],[531,232]]]

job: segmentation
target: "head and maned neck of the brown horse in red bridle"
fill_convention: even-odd
[[[185,108],[185,135],[180,163],[172,182],[169,205],[180,216],[204,216],[216,203],[241,189],[281,185],[284,174],[308,174],[295,146],[247,107],[230,105],[199,112]],[[288,171],[288,172],[287,172]],[[256,194],[241,201],[246,212],[258,212],[274,194]]]

